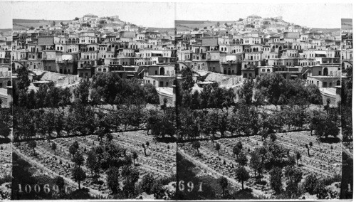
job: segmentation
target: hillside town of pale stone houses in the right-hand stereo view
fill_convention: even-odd
[[[276,72],[335,91],[351,64],[344,64],[345,58],[352,60],[352,49],[341,52],[341,45],[352,43],[344,35],[341,38],[340,31],[323,33],[281,17],[248,16],[234,23],[179,32],[177,63],[182,68],[242,78]]]

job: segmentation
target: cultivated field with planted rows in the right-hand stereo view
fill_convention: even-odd
[[[335,174],[341,174],[342,158],[340,143],[329,144],[319,142],[317,137],[310,136],[310,132],[279,133],[276,136],[276,142],[290,149],[290,154],[295,154],[296,151],[302,154],[299,160],[299,167],[303,171],[303,179],[309,174],[316,174],[319,178],[333,177]],[[260,136],[253,136],[249,139],[248,137],[225,138],[215,141],[219,142],[221,146],[219,156],[218,152],[214,149],[214,143],[211,141],[201,142],[200,155],[197,154],[197,149],[192,148],[189,143],[179,146],[179,152],[201,169],[198,175],[210,175],[216,178],[225,176],[231,186],[241,188],[241,184],[235,178],[235,169],[239,164],[236,163],[233,153],[233,147],[239,141],[243,144],[242,151],[247,155],[248,163],[251,158],[251,151],[263,145],[263,139]],[[310,157],[305,148],[305,144],[309,144],[309,142],[313,142],[313,147],[310,149]],[[266,171],[263,173],[262,181],[266,181],[266,184],[256,184],[256,179],[253,178],[253,170],[248,165],[245,168],[251,176],[245,183],[245,188],[252,188],[255,196],[270,197],[273,194],[273,190],[268,183],[269,174]]]

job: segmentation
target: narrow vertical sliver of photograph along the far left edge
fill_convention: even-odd
[[[0,200],[11,199],[11,3],[0,2]]]

